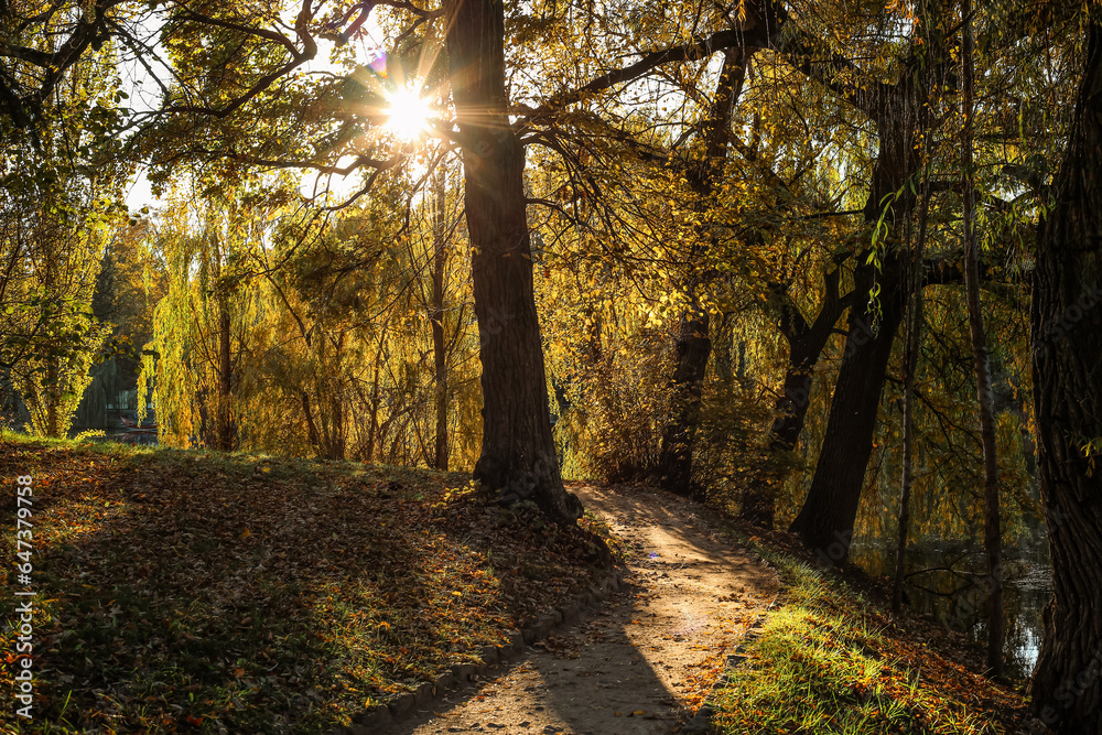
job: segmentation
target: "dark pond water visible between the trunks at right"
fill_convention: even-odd
[[[869,574],[894,576],[895,545],[858,539],[850,558]],[[1007,672],[1028,677],[1037,662],[1041,613],[1052,596],[1048,541],[1023,540],[1004,551]],[[969,639],[986,640],[986,560],[975,545],[925,542],[907,550],[910,608],[960,630]]]

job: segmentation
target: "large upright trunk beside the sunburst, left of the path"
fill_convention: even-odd
[[[533,500],[572,523],[551,436],[543,345],[532,287],[525,150],[509,127],[499,0],[445,0],[446,46],[463,151],[478,320],[483,446],[475,478],[503,500]]]

